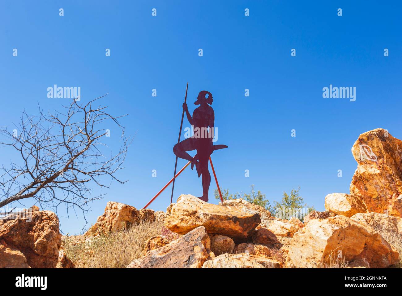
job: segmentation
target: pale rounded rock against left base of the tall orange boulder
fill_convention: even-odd
[[[337,215],[352,217],[357,213],[367,213],[366,207],[355,195],[331,193],[325,197],[325,210]]]

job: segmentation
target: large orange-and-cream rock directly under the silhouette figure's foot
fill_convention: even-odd
[[[245,240],[260,224],[260,214],[246,207],[213,205],[193,195],[180,195],[168,207],[165,226],[172,232],[186,234],[204,226],[209,234],[222,234],[234,240]]]

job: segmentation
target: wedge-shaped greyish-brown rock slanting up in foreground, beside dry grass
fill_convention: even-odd
[[[148,251],[127,268],[201,268],[210,253],[211,241],[205,227],[197,227],[170,244]]]

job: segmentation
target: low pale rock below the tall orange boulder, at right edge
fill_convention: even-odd
[[[351,218],[374,229],[379,228],[388,233],[402,233],[402,218],[379,213],[358,213]]]

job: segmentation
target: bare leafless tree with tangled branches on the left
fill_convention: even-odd
[[[34,198],[56,210],[66,205],[67,213],[78,207],[85,217],[87,204],[104,195],[91,196],[91,184],[109,188],[105,179],[126,182],[116,177],[129,146],[118,121],[124,115],[114,117],[106,112],[107,107],[95,107],[102,97],[85,106],[73,101],[63,106],[64,113],[45,114],[39,108],[39,116],[29,116],[24,111],[17,129],[0,129],[5,137],[0,144],[16,152],[10,166],[0,168],[0,207]],[[108,149],[101,139],[111,124],[121,131],[121,147],[106,157],[103,152]]]

